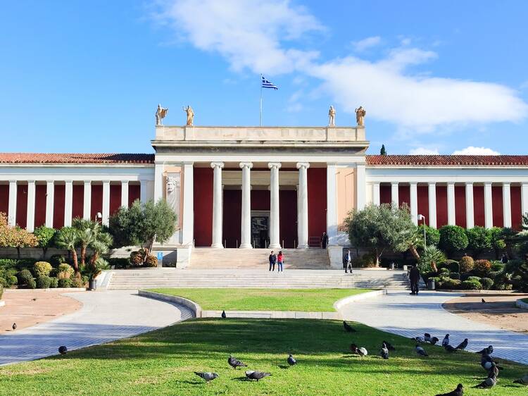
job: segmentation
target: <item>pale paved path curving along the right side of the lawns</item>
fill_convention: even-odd
[[[470,321],[442,307],[448,299],[458,296],[459,293],[450,292],[424,291],[413,296],[409,292],[389,291],[383,296],[347,304],[339,312],[346,320],[409,338],[431,333],[442,340],[449,333],[454,346],[468,338],[467,350],[471,352],[491,344],[495,357],[528,364],[528,335]]]

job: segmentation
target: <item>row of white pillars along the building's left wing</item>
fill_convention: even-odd
[[[27,180],[27,217],[26,230],[34,231],[35,212],[35,185],[36,180]],[[64,197],[64,225],[72,225],[73,214],[73,180],[65,180]],[[103,180],[103,210],[101,221],[108,225],[110,218],[110,180]],[[121,181],[121,206],[128,206],[128,180]],[[8,202],[8,223],[11,226],[16,224],[18,185],[16,180],[9,180],[9,202]],[[141,180],[141,200],[146,201],[146,181]],[[54,225],[54,201],[55,182],[46,180],[46,227],[52,228]],[[92,180],[84,180],[84,196],[82,218],[89,220],[92,211]]]

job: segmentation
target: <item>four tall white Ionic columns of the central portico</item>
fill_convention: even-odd
[[[224,163],[212,162],[213,168],[213,241],[211,247],[223,247],[223,194],[222,168]],[[251,249],[251,168],[253,163],[241,162],[242,202],[241,202],[241,249]],[[299,162],[298,168],[298,247],[308,247],[308,175],[309,163]],[[270,249],[280,249],[279,241],[279,169],[281,163],[270,162]],[[185,176],[187,178],[187,176]],[[187,187],[187,185],[186,185]],[[185,211],[185,209],[184,209]]]

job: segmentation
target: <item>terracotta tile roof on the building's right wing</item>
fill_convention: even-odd
[[[370,166],[528,166],[528,155],[367,155]]]

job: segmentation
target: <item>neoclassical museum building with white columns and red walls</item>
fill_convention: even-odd
[[[326,231],[336,267],[346,214],[370,202],[406,202],[436,228],[520,228],[528,211],[528,156],[365,155],[363,126],[157,125],[151,144],[155,154],[0,154],[0,211],[34,230],[107,224],[135,199],[166,199],[177,232],[156,249],[182,266],[195,248],[306,249]]]

